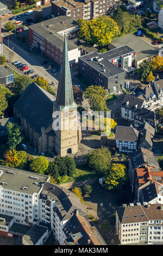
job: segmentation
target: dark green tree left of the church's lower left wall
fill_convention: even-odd
[[[22,128],[18,124],[9,122],[7,124],[8,142],[10,149],[15,149],[17,144],[21,143],[23,139]]]

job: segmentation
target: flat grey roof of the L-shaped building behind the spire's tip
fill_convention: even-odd
[[[73,21],[71,17],[59,16],[36,23],[29,26],[29,28],[62,50],[64,47],[64,36],[60,35],[58,32],[64,31],[65,28],[68,29],[77,26],[77,22]],[[70,40],[67,40],[67,48],[68,51],[71,51],[78,48],[78,46]]]

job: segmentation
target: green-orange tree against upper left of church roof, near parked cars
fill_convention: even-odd
[[[20,95],[23,90],[25,90],[29,84],[32,83],[32,78],[27,75],[18,76],[15,78],[15,87],[16,87],[16,93]]]

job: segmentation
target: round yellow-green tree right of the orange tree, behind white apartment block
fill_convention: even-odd
[[[46,160],[45,156],[39,156],[36,157],[36,159],[30,163],[30,168],[36,172],[36,173],[40,173],[40,174],[45,174],[45,171],[47,170],[49,165],[48,160]]]

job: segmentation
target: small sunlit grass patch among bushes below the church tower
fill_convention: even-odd
[[[70,177],[66,182],[74,182],[79,180],[89,180],[93,179],[97,176],[97,174],[90,172],[87,166],[78,166],[76,168],[76,172],[72,177]]]

